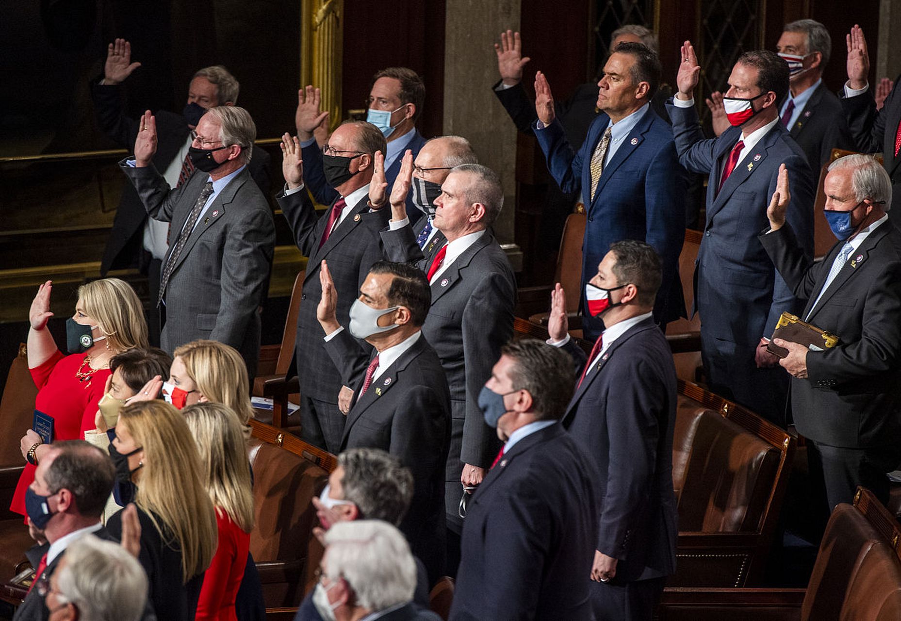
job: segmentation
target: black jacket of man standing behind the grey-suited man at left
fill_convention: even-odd
[[[94,100],[94,114],[97,125],[106,136],[123,149],[132,152],[134,141],[140,130],[140,120],[125,115],[122,91],[119,87],[93,83],[91,96]],[[190,129],[185,117],[165,110],[158,110],[157,152],[153,165],[165,171],[187,141]],[[259,147],[253,150],[247,169],[256,181],[263,196],[269,199],[269,154]],[[100,273],[106,276],[110,269],[133,267],[143,248],[144,223],[147,211],[132,184],[123,185],[122,199],[116,209],[113,230],[106,242]],[[156,301],[156,300],[154,300]]]

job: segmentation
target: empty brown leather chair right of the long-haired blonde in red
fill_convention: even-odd
[[[313,534],[318,521],[312,500],[337,458],[271,425],[256,420],[250,425],[255,517],[250,553],[266,607],[296,607],[314,585],[323,554]]]

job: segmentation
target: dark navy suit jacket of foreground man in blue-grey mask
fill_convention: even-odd
[[[593,618],[596,478],[558,423],[515,443],[469,501],[451,619]]]

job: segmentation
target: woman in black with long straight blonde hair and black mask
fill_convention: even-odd
[[[128,470],[137,488],[138,560],[150,580],[153,609],[159,619],[193,619],[217,528],[191,431],[177,409],[152,400],[124,406],[115,434],[116,470]],[[116,538],[122,514],[106,524]]]

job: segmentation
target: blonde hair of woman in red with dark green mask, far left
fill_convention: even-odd
[[[78,288],[78,299],[87,315],[96,319],[114,352],[149,346],[141,300],[124,280],[92,280]]]

